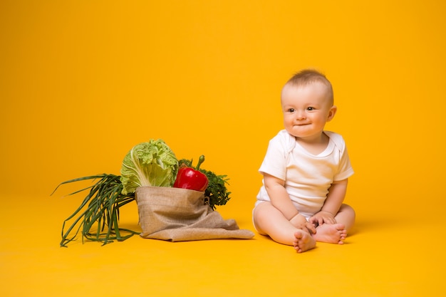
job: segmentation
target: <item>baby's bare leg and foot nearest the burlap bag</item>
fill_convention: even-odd
[[[254,209],[254,224],[260,234],[280,244],[294,246],[299,253],[313,249],[316,241],[306,231],[297,229],[271,202],[262,202]]]

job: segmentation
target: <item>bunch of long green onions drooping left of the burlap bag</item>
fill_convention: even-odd
[[[125,204],[135,200],[135,193],[122,194],[123,184],[120,176],[115,174],[98,174],[89,177],[79,177],[59,184],[69,184],[88,179],[99,179],[90,187],[85,187],[68,195],[78,194],[90,189],[81,205],[70,217],[63,221],[61,246],[68,247],[67,244],[76,240],[79,231],[84,239],[90,241],[100,241],[105,244],[113,240],[124,241],[139,232],[123,229],[118,226],[119,209]],[[51,193],[51,194],[53,194]],[[77,216],[77,217],[76,217]],[[68,226],[68,222],[71,225]]]

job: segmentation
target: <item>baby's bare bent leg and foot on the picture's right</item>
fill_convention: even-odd
[[[347,204],[342,204],[336,214],[336,224],[322,224],[316,228],[313,238],[316,241],[328,242],[330,244],[343,244],[347,237],[347,231],[355,222],[355,211]]]

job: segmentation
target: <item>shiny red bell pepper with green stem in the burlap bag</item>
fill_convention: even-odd
[[[204,156],[199,157],[197,167],[181,167],[178,170],[177,179],[173,187],[182,189],[194,189],[195,191],[203,192],[209,184],[206,174],[199,171],[199,165],[204,162]]]

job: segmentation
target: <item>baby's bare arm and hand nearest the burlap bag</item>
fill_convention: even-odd
[[[308,223],[306,218],[299,214],[293,202],[291,202],[289,194],[285,189],[284,180],[264,173],[264,184],[269,199],[271,199],[271,204],[276,207],[276,209],[279,209],[293,226],[299,229],[308,229],[309,231],[316,233],[313,224]]]

